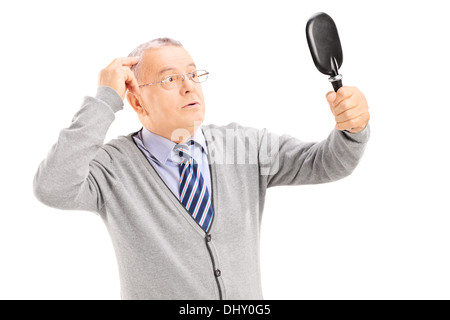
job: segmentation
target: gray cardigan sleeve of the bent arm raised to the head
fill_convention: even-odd
[[[98,179],[110,170],[111,159],[101,147],[115,119],[123,109],[117,92],[100,86],[95,97],[86,96],[68,128],[40,163],[33,191],[42,203],[58,208],[98,212],[104,195]]]

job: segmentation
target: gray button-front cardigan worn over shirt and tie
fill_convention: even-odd
[[[136,146],[133,133],[104,144],[122,108],[109,87],[85,97],[33,183],[44,204],[102,218],[117,257],[122,299],[262,299],[266,189],[344,178],[369,139],[369,126],[356,134],[333,129],[322,142],[306,143],[237,123],[202,125],[214,209],[206,234]]]

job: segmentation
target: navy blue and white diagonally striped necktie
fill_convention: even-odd
[[[192,140],[190,142],[193,143]],[[174,150],[182,159],[179,168],[180,201],[194,220],[207,232],[213,218],[213,208],[198,163],[190,155],[186,144],[177,144]]]

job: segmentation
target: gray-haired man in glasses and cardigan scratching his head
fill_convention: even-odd
[[[346,177],[369,139],[367,102],[354,87],[327,94],[336,128],[320,143],[201,125],[206,77],[168,38],[115,59],[35,175],[43,203],[103,219],[123,299],[262,299],[267,188]],[[125,95],[143,127],[104,144]]]

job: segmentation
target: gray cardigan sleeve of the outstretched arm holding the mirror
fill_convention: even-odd
[[[321,142],[304,142],[290,135],[260,132],[260,175],[267,188],[327,183],[350,175],[370,137],[369,124],[358,133],[337,129]]]

